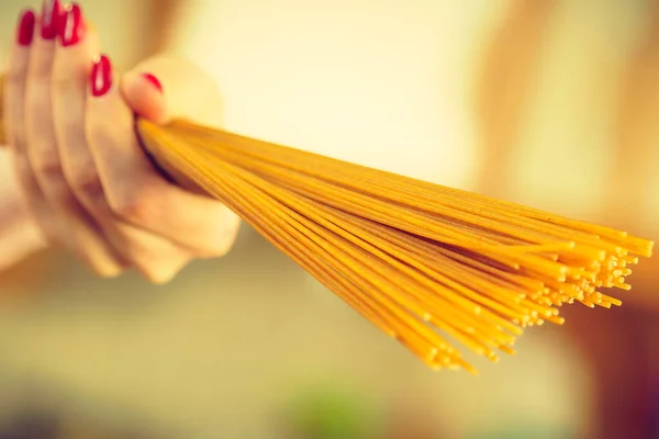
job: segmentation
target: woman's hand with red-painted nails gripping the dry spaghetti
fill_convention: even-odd
[[[217,124],[210,78],[153,58],[119,77],[77,4],[25,11],[5,79],[5,131],[24,198],[51,243],[98,274],[135,267],[167,282],[191,259],[228,251],[239,219],[165,180],[141,149],[134,113]]]

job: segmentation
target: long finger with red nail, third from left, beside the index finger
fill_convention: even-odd
[[[45,117],[53,121],[54,133],[51,135],[56,139],[59,171],[72,194],[59,202],[68,200],[85,207],[78,209],[76,215],[85,221],[80,228],[86,225],[87,230],[97,232],[93,243],[83,243],[85,248],[103,244],[107,252],[120,255],[152,282],[167,282],[188,263],[190,255],[160,237],[118,221],[112,214],[85,128],[90,59],[98,52],[96,33],[86,32],[81,10],[76,4],[66,11],[62,24],[60,44],[56,47],[51,72],[53,110]],[[113,115],[109,113],[104,117],[112,120]],[[127,132],[132,133],[132,130]],[[92,229],[94,225],[96,229]]]

